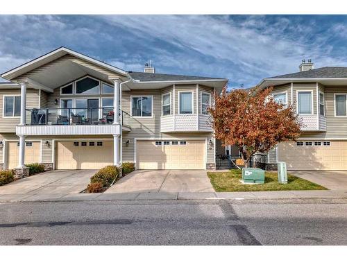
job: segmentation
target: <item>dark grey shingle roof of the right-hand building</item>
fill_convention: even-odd
[[[347,78],[347,67],[322,67],[271,78]]]

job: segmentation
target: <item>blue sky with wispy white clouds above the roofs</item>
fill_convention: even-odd
[[[347,66],[347,16],[0,15],[0,72],[59,46],[127,71],[152,60],[158,73],[262,78],[314,66]]]

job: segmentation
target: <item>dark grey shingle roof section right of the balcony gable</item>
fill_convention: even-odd
[[[146,72],[136,72],[136,71],[128,71],[128,73],[134,80],[139,80],[139,81],[227,80],[226,78],[208,78],[208,77],[199,77],[199,76],[146,73]]]

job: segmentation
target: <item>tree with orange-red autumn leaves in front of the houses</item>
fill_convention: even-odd
[[[294,105],[277,103],[272,87],[264,90],[233,89],[214,95],[209,107],[216,139],[223,146],[239,148],[246,165],[255,153],[266,153],[282,141],[295,141],[301,135],[301,119]]]

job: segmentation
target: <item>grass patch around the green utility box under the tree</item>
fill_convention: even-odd
[[[303,191],[326,189],[325,187],[288,174],[288,184],[279,184],[277,173],[265,172],[264,184],[242,184],[241,170],[227,172],[208,172],[208,177],[215,191]]]

